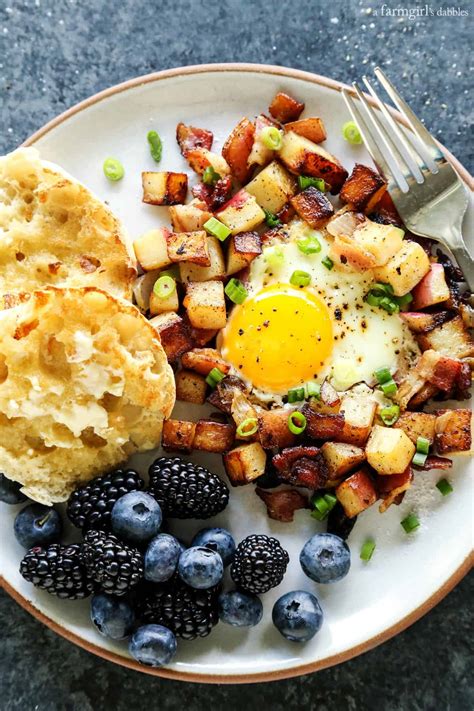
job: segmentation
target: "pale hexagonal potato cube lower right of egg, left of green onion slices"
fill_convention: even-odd
[[[403,430],[374,425],[365,447],[370,466],[379,474],[400,474],[405,471],[416,447]]]

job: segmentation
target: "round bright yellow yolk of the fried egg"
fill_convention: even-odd
[[[332,347],[326,305],[290,284],[273,284],[235,306],[222,338],[222,355],[237,372],[276,394],[314,379]]]

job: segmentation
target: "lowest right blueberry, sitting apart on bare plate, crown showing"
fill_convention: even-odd
[[[282,595],[273,605],[273,624],[291,642],[307,642],[323,624],[323,611],[318,599],[305,590]]]

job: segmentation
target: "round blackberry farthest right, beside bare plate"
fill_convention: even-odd
[[[254,534],[237,546],[230,575],[238,588],[259,595],[281,583],[289,560],[276,538]]]

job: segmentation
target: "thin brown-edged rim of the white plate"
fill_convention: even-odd
[[[21,145],[31,146],[34,145],[40,138],[49,133],[51,130],[62,124],[68,118],[77,115],[84,109],[90,106],[114,96],[123,91],[128,91],[137,86],[142,86],[144,84],[153,83],[156,81],[161,81],[163,79],[170,79],[174,77],[190,76],[195,74],[211,73],[211,72],[242,72],[242,73],[261,73],[270,74],[276,76],[282,76],[289,79],[299,79],[302,81],[309,82],[311,84],[318,84],[324,86],[333,91],[340,91],[342,88],[354,93],[352,87],[344,84],[342,82],[324,77],[319,74],[313,74],[311,72],[306,72],[300,69],[291,69],[289,67],[280,67],[271,64],[252,64],[252,63],[216,63],[216,64],[197,64],[189,65],[183,67],[175,67],[171,69],[164,69],[159,72],[153,72],[151,74],[145,74],[139,77],[134,77],[127,81],[115,84],[107,89],[104,89],[92,96],[80,101],[71,108],[62,112],[58,116],[54,117],[48,121],[44,126],[35,131],[31,136],[29,136]],[[371,97],[367,97],[368,100],[373,103]],[[401,114],[389,107],[394,117],[407,126],[406,121],[403,119]],[[439,141],[438,141],[439,143]],[[441,143],[440,146],[444,150],[445,154],[449,158],[449,161],[456,168],[457,172],[461,178],[465,181],[471,190],[474,190],[474,178],[470,175],[468,170],[460,163],[460,161],[450,153]],[[331,655],[324,659],[320,659],[316,662],[310,662],[308,664],[303,664],[297,667],[292,667],[289,669],[278,669],[270,672],[257,672],[255,674],[199,674],[195,672],[179,671],[176,669],[166,669],[159,668],[153,669],[150,667],[144,667],[138,662],[135,662],[131,658],[124,657],[116,652],[109,651],[98,645],[95,645],[87,640],[82,639],[79,635],[71,632],[70,630],[62,627],[59,623],[55,622],[49,618],[44,612],[41,612],[36,608],[32,601],[24,597],[15,588],[13,588],[7,581],[0,575],[0,587],[5,590],[23,609],[29,612],[33,617],[46,625],[49,629],[59,634],[61,637],[67,639],[69,642],[76,644],[78,647],[85,649],[96,656],[106,659],[107,661],[114,662],[120,666],[133,669],[135,671],[140,671],[145,674],[150,674],[152,676],[158,676],[166,679],[174,679],[176,681],[187,681],[195,683],[207,683],[207,684],[248,684],[257,682],[268,682],[277,681],[281,679],[289,679],[292,677],[301,676],[303,674],[310,674],[312,672],[319,671],[337,664],[341,664],[349,659],[352,659],[359,654],[363,654],[373,649],[374,647],[386,642],[390,638],[399,634],[403,630],[407,629],[414,622],[419,620],[423,615],[429,612],[433,607],[435,607],[451,590],[462,580],[462,578],[469,572],[474,564],[474,553],[471,552],[466,556],[461,565],[457,570],[434,592],[427,598],[421,605],[412,610],[408,615],[403,617],[401,620],[391,625],[387,629],[379,632],[378,634],[370,637],[370,639],[361,642],[358,645],[351,647],[350,649],[340,652],[339,654]]]

